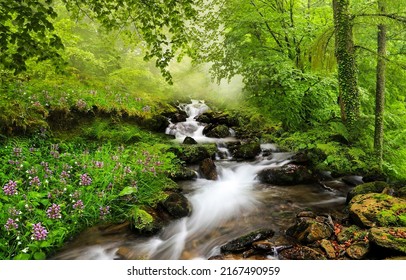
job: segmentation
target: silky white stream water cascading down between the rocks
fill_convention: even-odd
[[[90,229],[55,259],[207,259],[218,254],[226,242],[260,228],[272,228],[276,231],[274,239],[283,242],[283,231],[304,208],[332,213],[343,207],[345,191],[328,190],[320,184],[280,187],[260,183],[258,171],[287,164],[292,154],[277,152],[273,144],[263,144],[264,151],[273,151],[270,158],[260,155],[251,162],[233,161],[224,143],[235,138],[205,137],[204,125],[194,119],[209,109],[207,105],[194,101],[182,105],[182,109],[188,119],[171,124],[167,133],[179,142],[186,136],[198,142],[216,142],[219,152],[226,155],[216,161],[218,180],[198,178],[180,183],[192,213],[148,238]]]

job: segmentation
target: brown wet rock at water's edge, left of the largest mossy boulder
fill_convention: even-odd
[[[296,223],[287,229],[286,235],[291,236],[303,244],[310,244],[318,240],[328,239],[333,234],[334,225],[329,217],[301,216]]]

